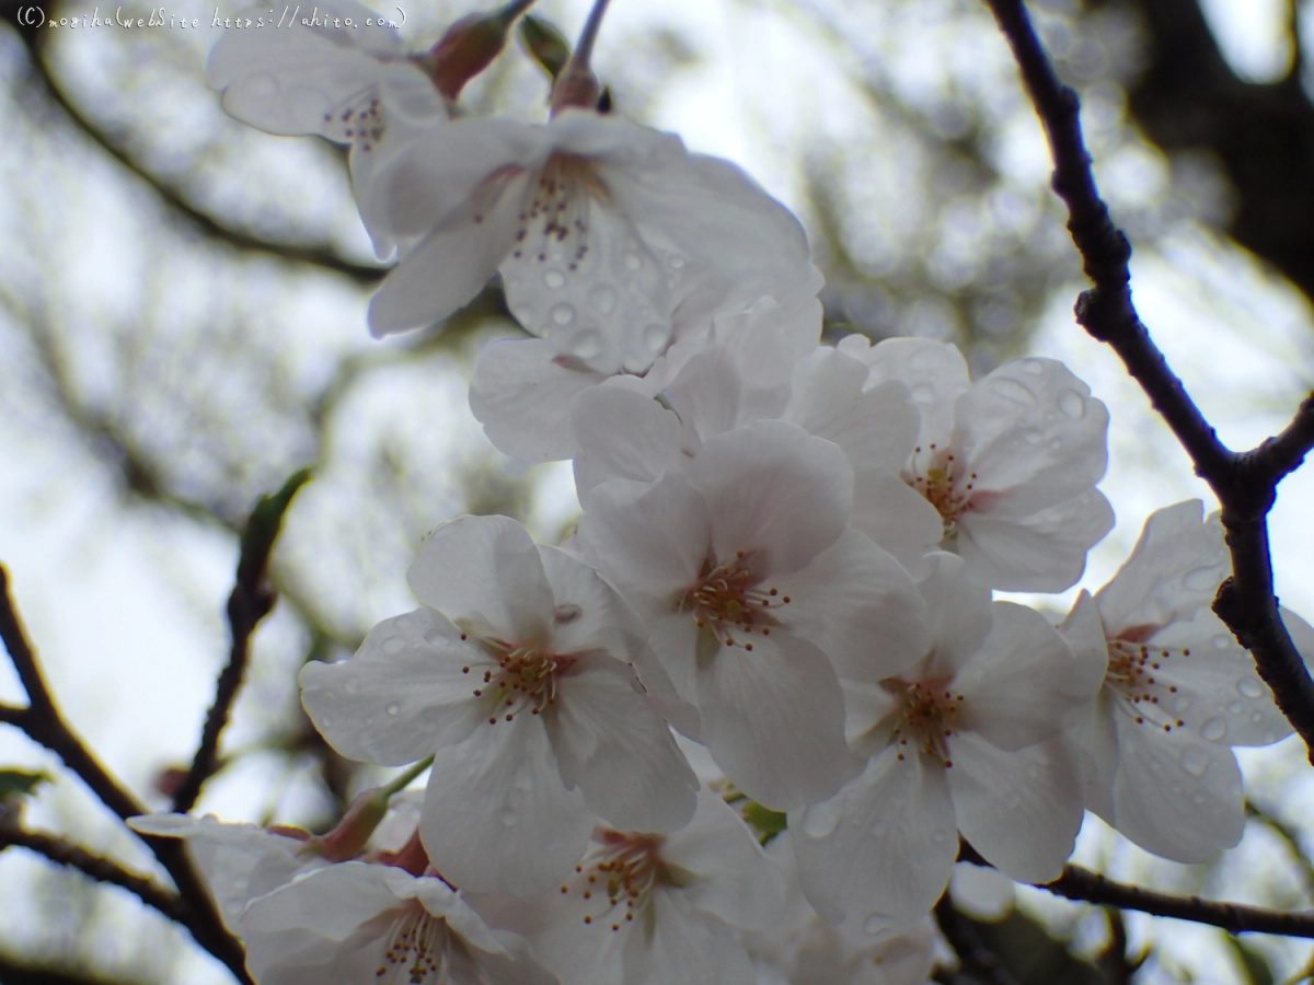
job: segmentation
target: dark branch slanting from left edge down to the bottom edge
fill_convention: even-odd
[[[145,814],[146,808],[105,771],[59,714],[37,665],[37,657],[22,630],[18,613],[9,598],[9,574],[4,565],[0,565],[0,640],[4,641],[9,658],[18,672],[18,679],[28,692],[28,708],[21,709],[20,720],[14,724],[22,728],[33,741],[58,755],[64,766],[75,772],[91,788],[92,793],[120,818]],[[184,926],[196,938],[196,943],[223,961],[238,981],[251,985],[242,944],[223,926],[209,892],[196,869],[192,868],[185,846],[176,838],[145,838],[143,841],[173,879],[179,896],[187,901],[191,919]]]

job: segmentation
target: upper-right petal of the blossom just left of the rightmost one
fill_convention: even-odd
[[[1010,602],[991,604],[986,642],[954,678],[963,695],[959,722],[1001,749],[1021,749],[1058,734],[1093,700],[1108,659],[1074,654],[1039,612]]]

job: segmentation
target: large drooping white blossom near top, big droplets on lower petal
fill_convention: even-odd
[[[820,288],[798,219],[678,137],[579,109],[453,126],[377,173],[402,253],[371,303],[376,335],[440,322],[501,271],[511,313],[556,356],[643,373],[677,320]]]

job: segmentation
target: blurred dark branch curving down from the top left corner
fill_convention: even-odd
[[[80,109],[78,109],[76,105],[74,105],[68,96],[64,95],[58,80],[51,75],[50,68],[46,64],[41,50],[41,43],[46,35],[42,32],[29,30],[18,25],[16,20],[18,9],[20,8],[17,5],[12,9],[7,7],[7,13],[3,14],[3,18],[16,29],[18,37],[28,49],[28,59],[32,63],[33,77],[42,93],[51,104],[63,112],[64,117],[67,117],[78,130],[95,141],[96,144],[99,144],[100,148],[113,158],[125,171],[148,185],[175,217],[185,222],[188,226],[192,226],[202,235],[227,243],[237,250],[267,253],[280,260],[319,267],[322,269],[351,277],[359,284],[367,286],[377,284],[384,278],[384,274],[388,273],[388,268],[384,267],[352,263],[328,246],[284,243],[233,229],[189,202],[180,188],[164,181],[158,175],[151,173],[133,158],[122,142],[116,141],[101,130]]]

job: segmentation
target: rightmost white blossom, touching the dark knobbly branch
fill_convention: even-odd
[[[1059,628],[1104,659],[1104,686],[1083,728],[1087,808],[1147,851],[1205,862],[1244,827],[1230,746],[1292,732],[1254,661],[1210,611],[1231,565],[1218,515],[1198,499],[1146,520],[1131,557]],[[1307,629],[1293,613],[1284,613]]]

